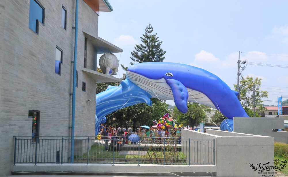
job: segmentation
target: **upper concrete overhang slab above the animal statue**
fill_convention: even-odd
[[[85,37],[89,40],[89,42],[92,43],[92,45],[95,47],[97,50],[97,54],[99,53],[118,53],[118,52],[123,52],[122,49],[119,47],[105,41],[104,39],[98,37],[98,36],[92,36],[88,32],[83,31]]]

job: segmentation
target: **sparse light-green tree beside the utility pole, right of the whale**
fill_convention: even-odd
[[[240,98],[241,98],[241,105],[245,109],[248,116],[253,117],[253,85],[255,85],[255,106],[259,106],[259,108],[256,109],[256,111],[264,111],[267,110],[265,107],[262,106],[261,103],[263,101],[261,100],[264,97],[268,97],[267,91],[260,91],[261,86],[261,78],[259,79],[256,77],[253,80],[253,77],[247,76],[246,79],[240,80]],[[236,91],[237,85],[234,84],[234,89]],[[256,117],[258,115],[255,115]]]

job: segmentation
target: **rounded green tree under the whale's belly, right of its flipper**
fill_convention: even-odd
[[[183,124],[184,126],[189,125],[193,127],[200,122],[205,121],[206,113],[204,111],[208,111],[210,107],[206,105],[201,105],[204,111],[197,103],[188,102],[187,103],[188,111],[186,113],[180,112],[176,107],[174,107],[174,118],[177,120],[178,124]]]

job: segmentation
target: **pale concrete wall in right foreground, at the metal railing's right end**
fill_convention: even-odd
[[[250,164],[270,164],[274,159],[273,137],[206,130],[206,133],[182,129],[182,137],[216,138],[215,161],[217,176],[257,176]],[[183,147],[186,148],[186,147]],[[184,152],[185,153],[185,152]],[[187,156],[187,154],[186,154]]]

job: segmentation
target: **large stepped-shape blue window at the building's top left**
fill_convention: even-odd
[[[30,0],[29,28],[38,33],[39,22],[44,25],[44,7],[37,0]]]

